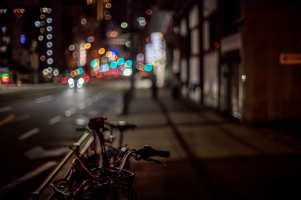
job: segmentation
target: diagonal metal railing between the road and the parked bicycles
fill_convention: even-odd
[[[79,152],[81,155],[84,155],[87,152],[87,149],[92,148],[92,145],[91,145],[92,143],[97,143],[96,141],[98,141],[98,140],[95,141],[94,140],[95,137],[92,134],[93,133],[86,132],[85,134],[82,135],[82,137],[79,139],[79,141],[77,143],[73,143],[73,148],[71,148],[70,152],[57,165],[57,167],[50,173],[50,175],[44,180],[44,182],[34,192],[30,192],[28,194],[29,198],[27,200],[39,200],[42,192],[44,192],[45,189],[50,185],[50,183],[53,181],[54,177],[57,176],[57,174],[62,170],[64,165],[68,162],[68,160],[71,158],[71,156],[75,152]],[[94,145],[94,146],[99,146],[99,145]],[[95,151],[97,152],[98,149],[95,149]],[[76,156],[78,156],[78,155],[76,155]],[[70,168],[71,168],[71,165],[70,165]],[[48,200],[51,200],[51,199],[54,199],[54,192],[52,192],[52,194],[48,197]]]

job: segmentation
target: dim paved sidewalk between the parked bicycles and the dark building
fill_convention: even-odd
[[[301,149],[295,129],[248,125],[188,104],[166,89],[155,100],[150,88],[142,88],[134,90],[127,115],[122,97],[105,113],[109,121],[137,125],[125,134],[130,147],[148,144],[171,152],[157,158],[167,168],[136,162],[140,199],[289,199],[298,193],[293,180],[301,178]]]

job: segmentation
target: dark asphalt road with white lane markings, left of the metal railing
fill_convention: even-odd
[[[54,84],[1,88],[0,199],[27,199],[79,140],[74,128],[107,112],[125,83],[107,80],[80,91]]]

